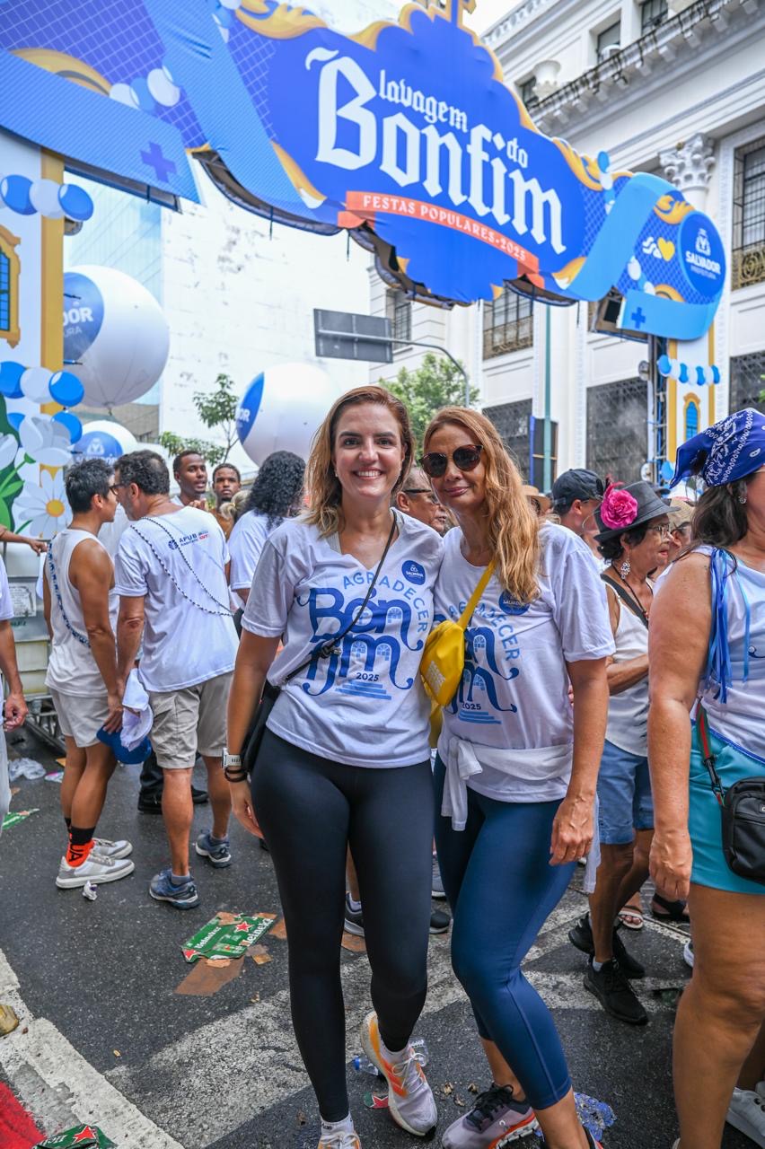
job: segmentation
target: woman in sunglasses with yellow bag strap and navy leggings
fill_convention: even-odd
[[[468,624],[435,768],[451,959],[492,1084],[442,1144],[481,1149],[539,1121],[552,1149],[586,1149],[595,1142],[577,1118],[552,1017],[520,963],[593,847],[613,651],[605,591],[586,543],[539,522],[485,416],[440,411],[420,463],[459,527],[445,540],[436,619],[457,619],[494,563]]]

